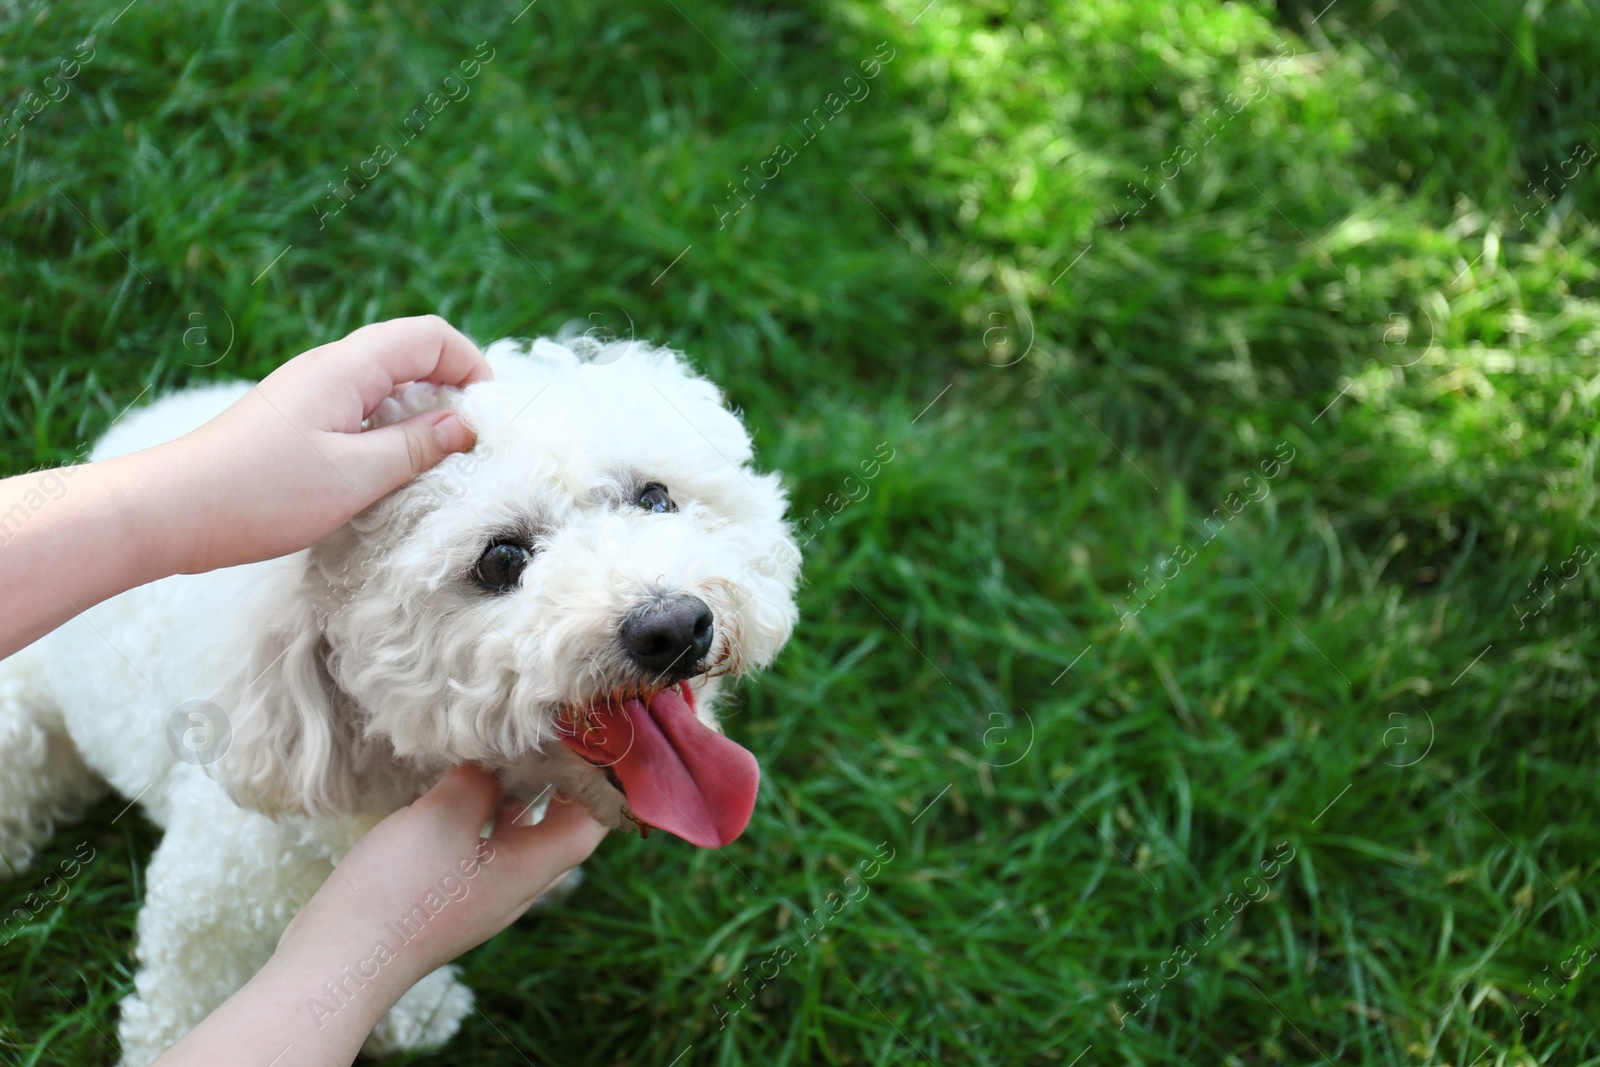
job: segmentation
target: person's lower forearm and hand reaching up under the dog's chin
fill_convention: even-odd
[[[296,1064],[354,1061],[405,990],[509,926],[606,833],[579,805],[552,801],[531,827],[515,825],[520,805],[501,805],[494,832],[482,838],[496,800],[490,774],[458,766],[373,827],[288,925],[267,965],[160,1067],[256,1062],[269,1045],[294,1049]],[[339,1009],[318,1013],[312,1005],[330,982],[344,990]]]

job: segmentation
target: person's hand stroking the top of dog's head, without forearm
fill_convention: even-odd
[[[165,509],[152,552],[165,569],[208,571],[298,552],[446,454],[470,448],[453,411],[362,430],[410,381],[493,378],[483,354],[437,315],[390,318],[294,357],[192,434],[141,453],[130,486]],[[173,537],[171,515],[184,515]]]

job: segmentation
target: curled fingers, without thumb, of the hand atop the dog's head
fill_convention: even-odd
[[[470,386],[494,378],[478,346],[438,315],[362,326],[328,347],[344,350],[366,414],[400,382]]]

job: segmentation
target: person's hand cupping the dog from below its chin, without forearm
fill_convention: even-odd
[[[526,805],[502,801],[496,809],[498,800],[494,777],[475,766],[445,774],[357,841],[283,931],[277,957],[354,965],[384,944],[390,952],[381,955],[392,960],[379,968],[387,974],[381,981],[398,997],[506,929],[606,835],[576,803],[552,800],[544,821],[514,825]],[[494,832],[480,838],[491,811]],[[402,920],[411,923],[397,944]]]

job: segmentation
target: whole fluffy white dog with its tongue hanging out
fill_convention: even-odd
[[[720,677],[766,665],[795,624],[778,477],[670,350],[571,338],[488,355],[496,381],[411,386],[373,418],[454,406],[470,453],[307,552],[134,589],[0,662],[0,877],[106,784],[165,829],[126,1064],[232,995],[333,862],[450,765],[702,846],[744,829],[758,769],[714,709]],[[166,397],[94,458],[248,389]],[[442,968],[366,1051],[437,1046],[470,1005]]]

